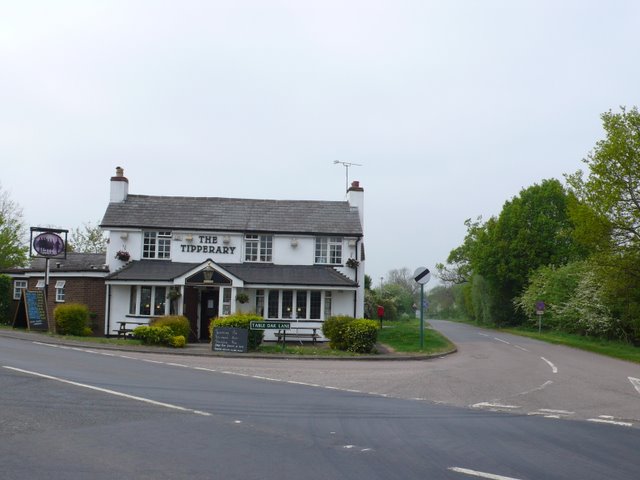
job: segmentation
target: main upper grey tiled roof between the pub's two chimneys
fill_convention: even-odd
[[[358,211],[346,201],[129,195],[109,204],[101,226],[362,235]]]

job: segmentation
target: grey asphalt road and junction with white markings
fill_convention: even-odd
[[[617,380],[637,366],[436,326],[458,354],[272,361],[0,338],[0,478],[638,478],[640,393]],[[528,415],[541,405],[575,413]]]

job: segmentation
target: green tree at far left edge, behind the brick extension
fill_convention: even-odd
[[[26,236],[22,208],[0,186],[0,268],[27,264]]]

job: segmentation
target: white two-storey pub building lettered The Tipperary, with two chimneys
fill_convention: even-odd
[[[345,201],[133,195],[118,167],[101,222],[104,333],[169,314],[189,319],[190,341],[208,341],[210,320],[236,312],[292,329],[362,317],[363,207],[357,181]]]

